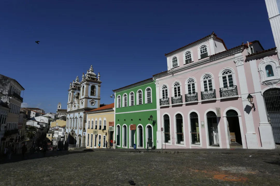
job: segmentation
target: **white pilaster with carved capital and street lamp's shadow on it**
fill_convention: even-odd
[[[247,96],[248,96],[248,88],[247,88],[247,81],[245,76],[245,69],[244,69],[244,58],[242,56],[237,56],[234,60],[237,68],[240,91],[241,91],[241,99],[242,105],[244,108],[244,118],[247,132],[246,136],[246,143],[248,149],[258,149],[258,141],[257,135],[254,128],[254,121],[251,108],[251,103],[249,103]]]

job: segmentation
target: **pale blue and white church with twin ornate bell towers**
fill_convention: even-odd
[[[69,147],[83,147],[86,142],[86,111],[100,107],[100,73],[92,65],[82,80],[76,77],[68,89],[65,140]]]

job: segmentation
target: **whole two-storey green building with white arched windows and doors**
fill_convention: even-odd
[[[156,147],[157,100],[153,78],[116,90],[114,139],[118,148]]]

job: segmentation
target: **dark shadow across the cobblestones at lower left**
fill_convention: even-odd
[[[18,161],[32,160],[38,158],[58,157],[58,156],[63,156],[68,154],[88,153],[88,152],[94,152],[94,151],[91,149],[90,150],[84,149],[80,151],[47,151],[45,156],[43,152],[34,153],[34,154],[26,153],[24,158],[22,158],[22,154],[13,154],[10,160],[8,160],[7,157],[1,157],[0,164],[13,163]]]

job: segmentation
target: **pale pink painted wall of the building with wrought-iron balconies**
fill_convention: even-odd
[[[194,49],[193,51],[197,52],[197,48],[196,50]],[[195,54],[194,54],[195,56]],[[227,58],[223,58],[222,60],[225,61],[226,59],[230,59],[232,58],[230,61],[228,62],[223,62],[220,64],[216,64],[219,61],[214,61],[214,62],[210,62],[207,63],[207,65],[213,65],[204,69],[200,69],[198,71],[192,71],[195,68],[192,69],[188,69],[186,70],[189,71],[189,73],[187,74],[183,74],[181,76],[176,76],[176,74],[174,74],[174,76],[170,75],[170,79],[165,79],[168,78],[168,76],[164,77],[164,81],[160,81],[159,84],[159,88],[161,89],[161,87],[165,84],[168,86],[169,88],[169,101],[171,104],[171,97],[174,96],[173,95],[173,91],[172,91],[172,85],[174,84],[175,81],[180,82],[181,84],[181,95],[183,95],[183,102],[185,102],[185,94],[186,94],[186,79],[189,77],[193,77],[196,80],[196,84],[197,84],[197,89],[196,92],[198,92],[198,100],[201,101],[201,95],[200,92],[201,90],[201,81],[200,79],[202,78],[204,73],[211,73],[214,76],[214,89],[216,90],[216,98],[219,99],[220,98],[220,93],[219,93],[219,89],[220,89],[220,80],[219,80],[219,73],[222,69],[224,68],[231,68],[234,71],[234,80],[235,80],[235,85],[237,85],[237,90],[238,90],[238,94],[240,95],[240,86],[239,86],[239,79],[238,79],[238,73],[237,73],[237,67],[236,64],[234,63],[234,56],[230,56]],[[197,61],[197,60],[195,60]],[[194,62],[195,63],[195,62]],[[186,64],[186,65],[192,65],[191,64]],[[192,72],[191,72],[192,71]],[[160,78],[163,79],[163,78]],[[160,80],[159,79],[159,80]],[[160,91],[160,98],[162,98],[162,92]],[[234,107],[236,108],[235,110],[237,111],[237,113],[241,113],[241,118],[242,118],[242,129],[243,129],[243,138],[245,139],[245,134],[246,134],[246,125],[245,125],[245,120],[244,120],[244,108],[242,106],[242,101],[241,98],[234,98],[234,99],[223,99],[223,100],[216,100],[216,101],[210,101],[210,102],[201,102],[201,103],[190,103],[190,104],[183,104],[183,105],[173,105],[173,106],[169,106],[169,107],[161,107],[160,108],[160,118],[161,118],[161,127],[163,126],[163,115],[165,113],[168,113],[170,115],[170,131],[171,131],[171,137],[172,137],[172,145],[164,145],[165,148],[207,148],[207,144],[206,144],[206,137],[208,137],[206,135],[206,128],[201,128],[200,131],[200,143],[202,144],[202,147],[197,147],[197,146],[191,146],[191,142],[190,142],[190,127],[189,127],[189,119],[188,119],[188,113],[191,110],[195,110],[198,113],[199,116],[199,125],[201,124],[202,121],[204,121],[205,125],[207,125],[207,120],[206,118],[206,111],[209,109],[215,110],[215,108],[221,108],[221,118],[220,121],[218,123],[218,125],[220,126],[220,134],[221,135],[221,141],[220,141],[220,147],[221,148],[227,148],[227,142],[226,142],[226,132],[227,129],[225,129],[225,123],[224,123],[224,119],[223,119],[223,114],[225,109],[229,108],[229,107]],[[183,122],[184,122],[184,133],[185,133],[185,145],[186,147],[183,146],[177,146],[176,142],[174,141],[174,134],[175,134],[175,129],[174,129],[174,121],[175,121],[175,114],[176,113],[181,113],[183,116]],[[246,144],[245,144],[246,147]]]

